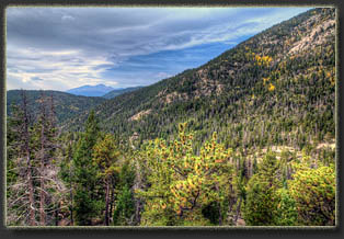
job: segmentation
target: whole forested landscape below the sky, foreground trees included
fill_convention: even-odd
[[[27,93],[8,115],[8,226],[336,223],[334,9],[108,100]]]

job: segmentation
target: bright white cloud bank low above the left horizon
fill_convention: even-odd
[[[20,59],[12,57],[18,55],[21,56]],[[34,60],[31,59],[33,55]],[[77,50],[39,52],[31,48],[8,50],[7,65],[8,90],[16,89],[21,80],[25,88],[48,90],[55,86],[55,90],[64,91],[89,81],[106,83],[101,73],[112,62],[102,56],[89,57]],[[43,81],[35,80],[37,78]],[[13,83],[12,79],[15,79]]]

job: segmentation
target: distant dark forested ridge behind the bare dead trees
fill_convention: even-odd
[[[57,116],[58,124],[61,124],[64,121],[74,117],[81,112],[87,111],[88,109],[99,105],[105,102],[103,98],[88,98],[88,96],[78,96],[60,91],[37,91],[37,90],[26,90],[26,96],[28,102],[28,111],[33,114],[38,112],[41,93],[44,95],[53,95],[54,105]],[[11,105],[21,104],[21,90],[10,90],[7,92],[7,114],[11,114]]]

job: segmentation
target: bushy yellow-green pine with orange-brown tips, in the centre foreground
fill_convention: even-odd
[[[206,143],[199,152],[194,155],[192,134],[186,134],[186,124],[180,124],[179,138],[167,144],[156,139],[146,148],[148,183],[150,187],[140,194],[146,198],[144,221],[152,218],[179,217],[190,220],[197,214],[202,216],[202,207],[210,202],[223,203],[229,194],[228,186],[232,179],[229,163],[231,150],[226,150],[217,143],[216,134]],[[149,216],[148,216],[149,215]]]

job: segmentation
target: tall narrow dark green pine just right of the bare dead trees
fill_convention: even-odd
[[[100,128],[92,111],[85,123],[85,132],[78,141],[73,155],[74,168],[74,213],[78,225],[91,225],[96,215],[96,168],[92,163],[93,147],[100,135]]]

